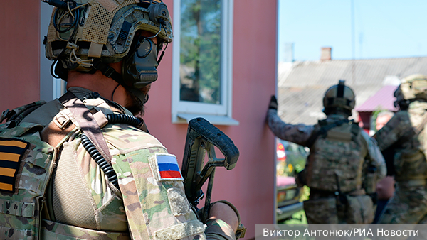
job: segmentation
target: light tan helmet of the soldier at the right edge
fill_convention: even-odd
[[[414,74],[401,80],[401,84],[394,91],[396,101],[394,105],[399,105],[400,109],[407,109],[408,105],[415,99],[427,100],[427,76]]]

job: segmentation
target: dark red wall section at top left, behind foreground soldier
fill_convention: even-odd
[[[40,3],[8,1],[1,6],[0,113],[40,99]]]

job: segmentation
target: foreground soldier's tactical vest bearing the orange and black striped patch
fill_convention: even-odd
[[[77,99],[75,102],[79,101]],[[79,130],[75,125],[70,124],[70,120],[80,119],[78,125],[80,127],[84,125],[81,122],[81,117],[76,117],[75,114],[71,115],[74,115],[75,118],[66,117],[70,116],[70,111],[69,109],[64,109],[56,115],[51,124],[56,121],[58,129],[61,129],[61,127],[65,129],[68,124],[70,129],[53,139],[44,139],[43,131],[48,130],[48,126],[20,122],[27,114],[44,103],[28,104],[12,111],[5,111],[1,116],[1,121],[3,119],[8,119],[8,121],[0,125],[0,239],[130,239],[127,232],[97,231],[41,219],[43,197],[53,168],[55,168],[55,161],[60,152],[60,147],[72,133]],[[83,103],[80,102],[80,104]],[[85,114],[88,114],[88,109],[85,110]],[[102,119],[102,116],[104,118],[105,116],[101,111],[99,113],[93,119],[96,120],[97,124],[104,121],[102,126],[105,126],[109,121]],[[110,118],[112,122],[120,122],[122,120],[117,116],[113,119]],[[68,123],[66,124],[65,121],[68,121]],[[126,118],[125,121],[127,124],[130,124],[130,122],[132,122],[132,125],[139,124],[140,129],[146,130],[143,121],[142,124],[140,122],[135,124],[135,121],[137,121],[135,118]],[[62,126],[61,123],[63,124]],[[84,132],[88,133],[87,131]],[[97,139],[94,140],[93,136],[88,137],[90,141],[96,143],[96,148],[99,148]],[[42,138],[54,144],[49,144],[43,141]],[[93,158],[100,159],[100,155],[103,156],[104,153],[95,152],[95,157]],[[93,156],[93,154],[90,153],[90,156]],[[97,160],[95,159],[95,161]],[[105,163],[98,163],[100,167],[101,164],[106,166]],[[112,183],[114,182],[113,178],[110,179],[110,176],[106,173],[109,170],[102,167],[101,169],[109,178],[110,183],[114,184]]]

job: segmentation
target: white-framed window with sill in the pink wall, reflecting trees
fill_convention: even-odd
[[[233,0],[175,0],[172,121],[231,119]]]

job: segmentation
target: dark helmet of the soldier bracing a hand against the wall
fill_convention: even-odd
[[[323,97],[323,111],[325,114],[342,113],[347,116],[352,115],[352,109],[356,104],[353,90],[344,84],[344,80],[339,80],[337,85],[333,85],[325,92]]]

